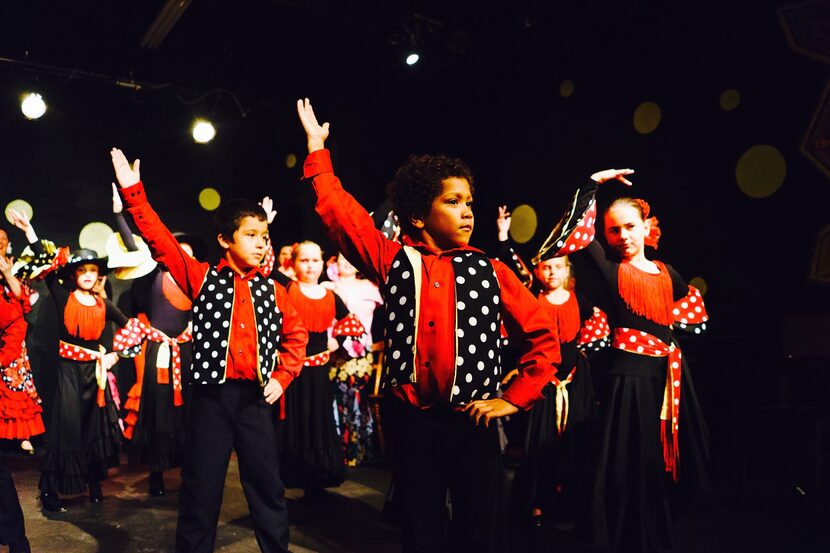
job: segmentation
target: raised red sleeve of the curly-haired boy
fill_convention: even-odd
[[[316,210],[329,237],[369,280],[376,284],[384,282],[386,272],[402,246],[388,240],[376,229],[371,215],[343,189],[340,179],[334,175],[328,150],[308,154],[303,177],[313,179]]]

